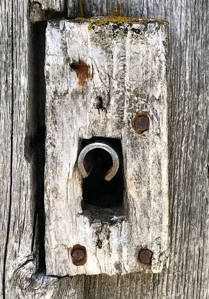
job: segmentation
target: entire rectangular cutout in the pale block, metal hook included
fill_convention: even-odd
[[[84,139],[78,168],[83,176],[83,214],[107,221],[116,215],[123,216],[123,154],[120,139]]]

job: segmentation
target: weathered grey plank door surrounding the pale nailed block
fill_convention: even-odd
[[[208,0],[4,0],[0,12],[0,298],[209,298]],[[169,267],[160,274],[47,276],[46,21],[110,14],[170,23]]]

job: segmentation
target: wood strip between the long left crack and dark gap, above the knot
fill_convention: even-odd
[[[29,1],[12,2],[12,161],[10,206],[6,260],[5,298],[15,298],[14,273],[33,259],[33,218],[35,203],[35,154],[32,141],[35,132],[33,94],[32,30],[28,18]],[[5,33],[4,33],[5,34]],[[8,57],[6,57],[8,61]],[[6,100],[6,102],[9,99]],[[11,105],[10,104],[10,105]],[[13,295],[12,295],[13,294]]]

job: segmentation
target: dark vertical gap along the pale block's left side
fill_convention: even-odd
[[[45,273],[45,215],[44,215],[44,164],[45,164],[45,31],[46,22],[37,22],[34,24],[34,69],[35,69],[35,101],[37,105],[37,128],[34,136],[34,150],[36,154],[36,207],[34,215],[34,232],[36,222],[38,223],[38,272]]]

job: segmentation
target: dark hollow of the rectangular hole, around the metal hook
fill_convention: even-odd
[[[83,140],[81,148],[83,149],[87,143],[95,140],[98,139]],[[110,144],[113,143],[120,150],[122,157],[120,140],[110,138],[99,138],[99,140],[108,140]],[[117,174],[110,181],[107,181],[105,176],[112,166],[111,155],[104,149],[92,149],[90,153],[96,157],[96,163],[89,176],[83,179],[82,208],[83,210],[90,210],[91,216],[99,219],[112,217],[113,214],[121,216],[123,206],[123,162],[121,162]],[[105,215],[102,216],[102,213]]]

